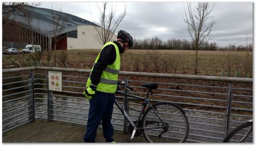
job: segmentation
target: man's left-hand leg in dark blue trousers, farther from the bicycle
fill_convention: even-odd
[[[85,142],[95,142],[97,128],[100,124],[102,115],[107,107],[106,93],[96,92],[95,97],[90,100],[90,108],[87,120],[86,133],[83,137]]]

